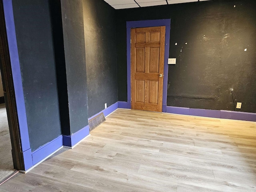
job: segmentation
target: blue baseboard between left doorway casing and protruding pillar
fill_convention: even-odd
[[[63,146],[62,140],[63,140],[62,135],[60,135],[54,140],[46,143],[45,145],[41,146],[37,150],[33,151],[32,152],[33,165],[37,164],[46,156],[50,155],[52,152],[62,147]]]

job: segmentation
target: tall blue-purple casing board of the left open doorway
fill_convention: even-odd
[[[18,47],[16,40],[16,32],[14,25],[14,16],[12,9],[12,0],[3,0],[4,4],[4,18],[6,22],[7,40],[10,53],[10,61],[12,67],[12,78],[14,84],[14,92],[16,98],[16,107],[18,113],[18,121],[20,128],[20,140],[22,152],[30,149],[30,142],[28,136],[28,123],[26,117],[26,108],[24,101],[24,94],[22,89],[22,78],[20,72],[20,61],[18,56]],[[26,162],[25,162],[26,163]],[[28,162],[31,164],[31,162]]]

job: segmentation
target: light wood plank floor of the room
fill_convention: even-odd
[[[256,192],[256,123],[118,109],[0,191]]]

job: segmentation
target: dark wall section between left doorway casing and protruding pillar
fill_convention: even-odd
[[[13,0],[32,151],[61,134],[52,26],[47,0]]]

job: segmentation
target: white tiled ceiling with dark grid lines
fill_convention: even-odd
[[[197,2],[198,0],[104,0],[115,9],[126,9],[136,7],[148,7],[176,3]],[[209,0],[199,0],[209,1]]]

